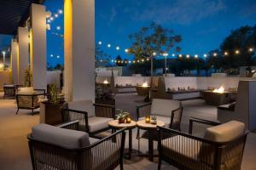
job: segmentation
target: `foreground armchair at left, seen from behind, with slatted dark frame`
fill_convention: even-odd
[[[111,170],[120,165],[123,169],[125,129],[91,143],[88,133],[77,131],[78,128],[79,121],[59,127],[41,124],[32,129],[28,135],[32,168]]]

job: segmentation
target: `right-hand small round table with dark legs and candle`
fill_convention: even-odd
[[[154,157],[154,148],[153,148],[153,133],[156,130],[156,127],[164,127],[165,122],[157,121],[156,125],[146,123],[145,120],[137,122],[138,128],[138,152],[140,152],[140,129],[146,130],[148,132],[148,155],[139,155],[139,156],[149,156],[149,161],[153,161]]]

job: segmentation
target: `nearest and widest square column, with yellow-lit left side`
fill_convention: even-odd
[[[64,0],[67,100],[95,99],[95,0]]]

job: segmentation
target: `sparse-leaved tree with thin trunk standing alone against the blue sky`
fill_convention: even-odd
[[[133,54],[135,59],[149,58],[151,60],[151,80],[153,77],[154,56],[169,53],[172,48],[175,48],[177,52],[181,49],[176,45],[182,41],[182,37],[154,22],[150,26],[142,27],[140,31],[131,34],[129,38],[132,42],[128,50],[129,54]]]

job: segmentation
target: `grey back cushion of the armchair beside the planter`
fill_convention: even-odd
[[[68,102],[67,105],[68,109],[76,111],[86,111],[89,117],[95,116],[93,103],[90,99]]]

